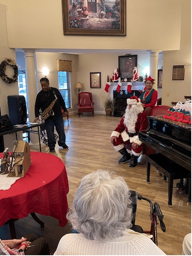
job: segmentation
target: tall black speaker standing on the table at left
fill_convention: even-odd
[[[12,125],[27,122],[27,107],[23,95],[7,96],[9,107],[9,119]]]

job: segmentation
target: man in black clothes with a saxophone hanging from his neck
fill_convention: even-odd
[[[65,130],[61,106],[64,112],[67,112],[65,101],[57,88],[49,87],[49,80],[46,77],[40,79],[42,90],[37,94],[35,101],[35,119],[39,120],[39,110],[41,109],[41,119],[45,120],[45,129],[47,131],[47,140],[50,152],[55,152],[54,128],[59,135],[58,145],[65,149]],[[67,113],[66,113],[67,114]],[[40,121],[40,120],[39,120]]]

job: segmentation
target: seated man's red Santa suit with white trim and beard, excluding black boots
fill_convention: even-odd
[[[135,99],[127,99],[127,105],[132,104],[131,108],[134,113],[130,114],[129,106],[127,106],[120,123],[111,134],[111,137],[117,137],[117,141],[114,140],[113,142],[116,151],[123,149],[125,144],[135,142],[138,147],[134,149],[131,146],[131,152],[134,156],[140,156],[143,151],[143,143],[139,140],[138,132],[144,132],[148,128],[147,114],[143,111],[140,99],[138,100],[139,102]]]

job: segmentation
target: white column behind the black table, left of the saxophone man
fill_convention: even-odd
[[[25,70],[26,70],[26,83],[27,83],[27,102],[28,102],[28,114],[29,122],[33,122],[35,119],[35,99],[37,96],[37,86],[35,80],[35,49],[23,49],[25,53]],[[37,128],[33,128],[37,130]],[[38,134],[30,134],[31,149],[39,149],[39,137]]]

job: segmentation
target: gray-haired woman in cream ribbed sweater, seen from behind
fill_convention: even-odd
[[[79,233],[63,236],[54,255],[166,255],[146,234],[129,229],[129,187],[108,171],[82,178],[67,219]]]

